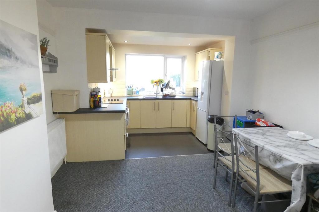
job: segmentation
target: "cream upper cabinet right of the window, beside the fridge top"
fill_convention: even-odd
[[[200,73],[203,69],[203,61],[204,60],[214,60],[215,59],[215,52],[223,51],[222,49],[215,49],[209,48],[203,51],[199,51],[195,54],[195,72],[194,72],[194,79],[195,81],[199,80]]]

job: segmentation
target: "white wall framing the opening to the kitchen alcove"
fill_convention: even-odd
[[[240,75],[249,74],[249,22],[231,19],[214,19],[197,16],[182,16],[170,14],[122,12],[109,10],[92,10],[78,8],[54,8],[57,17],[56,47],[59,58],[59,68],[55,81],[58,89],[80,90],[80,107],[89,107],[88,86],[86,73],[85,28],[99,28],[108,30],[137,30],[159,31],[176,33],[193,33],[209,35],[226,35],[234,39],[233,49],[237,50],[234,56],[234,69]],[[225,44],[225,48],[227,44]],[[244,84],[236,82],[238,86]],[[231,82],[228,82],[229,91],[224,92],[223,98],[230,103]],[[229,94],[228,94],[229,93]],[[234,99],[236,104],[237,99]],[[240,104],[233,111],[226,105],[227,111],[244,113],[250,106],[249,98],[243,97]]]

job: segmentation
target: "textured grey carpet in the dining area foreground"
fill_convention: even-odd
[[[252,211],[253,197],[242,188],[236,208],[227,206],[225,171],[212,188],[213,155],[63,164],[52,178],[55,210]]]

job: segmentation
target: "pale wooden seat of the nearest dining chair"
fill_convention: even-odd
[[[256,179],[256,173],[249,170],[246,171],[249,175]],[[253,187],[256,188],[256,181],[252,179],[248,174],[244,171],[240,171],[239,174]],[[269,168],[264,168],[259,170],[260,176],[260,186],[259,193],[260,194],[276,194],[276,193],[284,193],[291,191],[292,182],[283,178],[276,172],[272,171]]]

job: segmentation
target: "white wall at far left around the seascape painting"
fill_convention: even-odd
[[[1,1],[0,18],[39,38],[35,1]],[[0,151],[0,211],[54,211],[45,114],[1,133]]]

